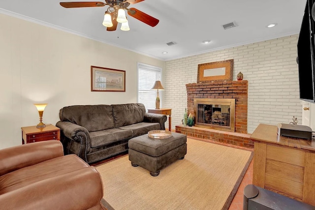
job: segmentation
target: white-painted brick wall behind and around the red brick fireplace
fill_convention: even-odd
[[[198,64],[234,59],[233,80],[248,80],[248,133],[259,123],[302,122],[297,57],[298,35],[165,61],[164,107],[172,108],[172,129],[187,107],[186,84],[196,82]],[[167,125],[165,125],[167,126]]]

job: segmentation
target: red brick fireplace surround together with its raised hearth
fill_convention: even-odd
[[[235,99],[235,132],[177,125],[176,132],[191,137],[253,148],[247,134],[248,81],[221,81],[213,83],[192,83],[186,85],[188,113],[194,113],[194,99]]]

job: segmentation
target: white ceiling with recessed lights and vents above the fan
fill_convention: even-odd
[[[102,25],[107,6],[63,8],[60,1],[67,0],[0,0],[0,13],[172,60],[298,34],[306,5],[306,0],[144,0],[128,8],[159,19],[156,27],[127,15],[129,31],[120,30],[120,24],[107,31]],[[224,30],[230,22],[237,27]],[[267,28],[271,23],[278,25]],[[206,39],[211,42],[203,44]],[[177,44],[168,46],[171,41]]]

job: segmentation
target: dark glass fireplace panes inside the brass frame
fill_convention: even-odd
[[[199,123],[230,126],[229,105],[198,104],[197,111]]]

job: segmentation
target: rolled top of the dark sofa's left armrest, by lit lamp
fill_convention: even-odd
[[[63,131],[63,135],[71,140],[80,142],[81,138],[78,135],[80,132],[86,134],[86,136],[90,139],[89,131],[80,125],[74,124],[68,121],[59,121],[56,123],[56,126],[59,127]]]

